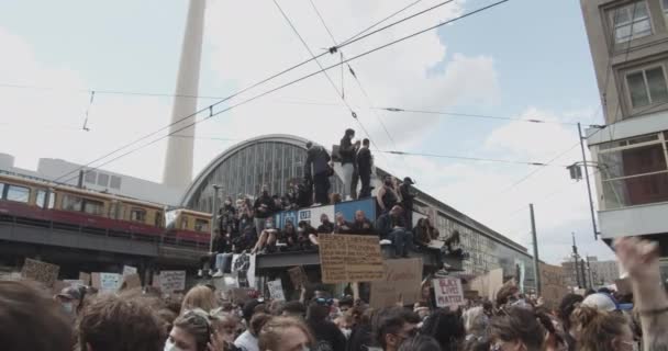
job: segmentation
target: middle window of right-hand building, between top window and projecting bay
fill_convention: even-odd
[[[631,104],[634,109],[668,100],[664,67],[657,66],[626,75]]]

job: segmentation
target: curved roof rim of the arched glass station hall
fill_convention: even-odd
[[[309,139],[302,138],[296,135],[288,134],[268,134],[260,135],[250,139],[243,140],[238,144],[235,144],[221,152],[218,157],[215,157],[202,171],[197,174],[194,180],[188,185],[186,193],[181,197],[181,206],[188,206],[190,199],[194,195],[194,192],[201,186],[202,182],[207,179],[211,172],[213,172],[216,168],[219,168],[227,158],[232,155],[236,154],[238,150],[242,150],[245,147],[248,147],[256,143],[285,143],[290,144],[302,149],[307,149],[307,143]],[[313,143],[313,141],[312,141]],[[313,143],[318,144],[318,143]]]

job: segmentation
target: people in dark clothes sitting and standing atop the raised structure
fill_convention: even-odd
[[[338,160],[343,170],[344,193],[330,193],[330,177],[334,168],[330,154],[319,145],[308,143],[308,156],[302,182],[289,183],[282,196],[271,195],[267,186],[261,188],[255,200],[240,195],[237,200],[225,199],[219,212],[219,227],[212,252],[202,259],[202,273],[222,275],[230,267],[233,253],[276,253],[318,250],[320,234],[376,235],[383,244],[392,245],[393,254],[408,257],[410,251],[428,248],[439,238],[433,218],[421,218],[413,226],[413,180],[403,181],[386,176],[377,191],[378,218],[369,218],[363,211],[355,218],[345,218],[336,213],[335,218],[323,215],[320,224],[302,220],[286,220],[282,227],[275,224],[274,215],[282,211],[294,211],[312,205],[338,203],[342,200],[368,199],[371,196],[370,177],[374,158],[369,140],[353,141],[355,131],[346,129],[338,148]],[[357,193],[358,183],[361,183]],[[333,222],[332,222],[333,220]],[[443,252],[456,252],[459,237],[452,234]],[[434,249],[441,250],[441,247]],[[218,272],[213,273],[216,270]]]

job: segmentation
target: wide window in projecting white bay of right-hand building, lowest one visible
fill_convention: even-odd
[[[666,139],[654,136],[609,143],[616,147],[599,152],[606,210],[668,201]]]

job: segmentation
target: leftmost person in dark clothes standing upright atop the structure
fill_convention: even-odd
[[[320,145],[307,143],[307,161],[304,165],[304,178],[315,188],[315,203],[321,205],[330,204],[330,177],[334,174],[330,161],[332,158]]]

